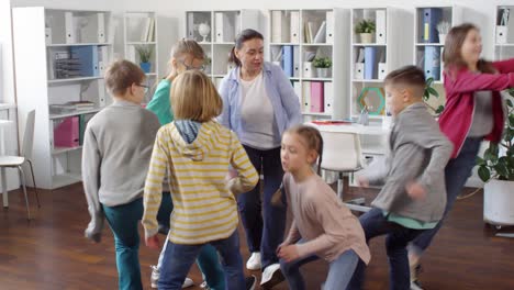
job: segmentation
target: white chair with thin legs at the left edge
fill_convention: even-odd
[[[40,197],[37,194],[34,169],[32,167],[32,148],[34,144],[34,121],[35,121],[35,110],[29,112],[26,116],[25,133],[23,134],[23,144],[21,147],[20,156],[0,156],[0,167],[5,168],[18,168],[20,171],[20,181],[23,187],[23,193],[25,194],[25,205],[27,219],[31,220],[31,210],[29,207],[29,197],[26,196],[26,178],[25,172],[23,171],[22,165],[29,163],[32,174],[32,180],[34,183],[34,192],[37,200],[37,207],[41,208]]]

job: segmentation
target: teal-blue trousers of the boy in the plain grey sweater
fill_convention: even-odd
[[[139,268],[139,234],[137,225],[143,216],[143,198],[130,203],[107,207],[103,212],[114,234],[119,289],[143,289]]]

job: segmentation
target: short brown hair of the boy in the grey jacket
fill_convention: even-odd
[[[426,87],[425,72],[416,66],[404,66],[386,76],[386,86],[404,85],[415,89],[414,97],[423,97]]]

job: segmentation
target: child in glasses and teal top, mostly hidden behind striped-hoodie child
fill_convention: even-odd
[[[170,59],[169,59],[169,75],[160,80],[157,89],[155,90],[154,97],[146,105],[146,109],[154,112],[159,119],[160,125],[166,125],[174,121],[174,113],[171,111],[171,104],[169,101],[169,92],[171,90],[171,82],[175,78],[190,69],[200,69],[203,70],[204,53],[202,47],[194,41],[191,40],[181,40],[174,45],[171,48]],[[169,220],[171,212],[174,210],[174,204],[171,202],[171,197],[169,193],[168,181],[163,182],[163,202],[160,203],[160,209],[157,214],[157,220],[159,222],[159,227],[164,228],[165,232],[168,232]],[[163,232],[163,231],[160,231]],[[159,280],[160,265],[163,264],[164,252],[166,249],[168,239],[165,239],[163,250],[159,255],[157,266],[152,266],[152,288],[157,288],[157,282]],[[223,268],[220,265],[217,253],[215,248],[211,245],[205,245],[200,252],[197,264],[202,271],[206,286],[211,289],[222,290],[225,289],[225,276]],[[182,288],[190,287],[193,285],[193,281],[190,278],[186,278]]]

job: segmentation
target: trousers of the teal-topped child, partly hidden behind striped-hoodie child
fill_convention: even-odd
[[[157,212],[157,221],[159,224],[163,224],[169,228],[169,217],[174,210],[174,201],[171,200],[171,194],[169,192],[163,192],[163,200],[160,202],[159,211]],[[160,269],[163,265],[164,254],[168,239],[165,239],[163,250],[159,255],[159,261],[157,268]],[[203,279],[206,281],[208,286],[212,290],[224,290],[225,289],[225,274],[220,264],[220,258],[217,257],[216,249],[211,245],[204,245],[200,253],[198,254],[197,265],[202,272]]]

